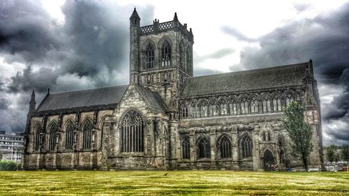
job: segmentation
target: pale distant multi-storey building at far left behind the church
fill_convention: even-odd
[[[6,134],[0,130],[0,150],[3,153],[3,160],[22,160],[24,133]]]

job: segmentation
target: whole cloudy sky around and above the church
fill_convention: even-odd
[[[23,131],[32,89],[128,84],[128,18],[193,28],[194,72],[313,59],[324,144],[349,144],[348,1],[0,1],[0,130]]]

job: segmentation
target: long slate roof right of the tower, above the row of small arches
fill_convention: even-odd
[[[308,63],[189,77],[182,96],[302,85]]]

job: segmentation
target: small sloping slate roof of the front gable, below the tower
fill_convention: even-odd
[[[138,90],[140,96],[142,96],[151,110],[153,110],[154,112],[167,112],[166,105],[165,103],[163,103],[163,100],[158,95],[158,93],[144,89],[144,87],[138,85],[135,85],[135,89]]]

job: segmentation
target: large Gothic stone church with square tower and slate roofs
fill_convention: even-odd
[[[312,61],[193,76],[193,32],[130,17],[130,84],[31,96],[24,169],[268,169],[297,165],[283,128],[290,101],[313,127],[322,165]]]

